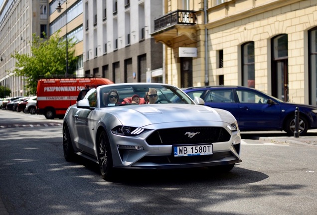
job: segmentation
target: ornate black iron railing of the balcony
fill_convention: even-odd
[[[196,13],[193,10],[175,10],[154,20],[154,30],[158,31],[175,24],[196,24]]]

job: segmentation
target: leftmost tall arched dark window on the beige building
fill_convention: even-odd
[[[254,42],[241,46],[242,54],[242,85],[255,88]]]

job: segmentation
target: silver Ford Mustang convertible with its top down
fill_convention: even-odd
[[[140,104],[131,103],[132,97]],[[110,181],[118,168],[227,172],[242,161],[240,143],[229,111],[204,106],[167,84],[99,86],[70,106],[63,121],[66,161],[75,154],[92,160]]]

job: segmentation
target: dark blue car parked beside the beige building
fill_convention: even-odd
[[[283,102],[253,88],[206,86],[183,89],[191,99],[200,97],[205,106],[230,111],[241,131],[295,131],[295,110],[299,108],[299,134],[317,128],[317,107]]]

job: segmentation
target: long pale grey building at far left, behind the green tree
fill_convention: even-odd
[[[47,0],[3,0],[0,8],[0,84],[11,90],[6,97],[28,96],[23,77],[14,75],[11,54],[30,53],[32,34],[41,35],[47,27]]]

